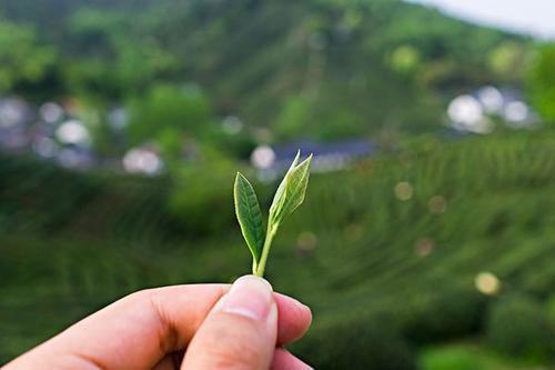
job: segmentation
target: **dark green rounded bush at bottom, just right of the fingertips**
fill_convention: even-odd
[[[316,369],[416,369],[411,348],[375,321],[353,321],[315,330],[303,339],[300,357]]]

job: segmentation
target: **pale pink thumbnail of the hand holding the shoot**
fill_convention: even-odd
[[[265,320],[272,304],[272,286],[254,276],[239,278],[222,299],[222,312]]]

